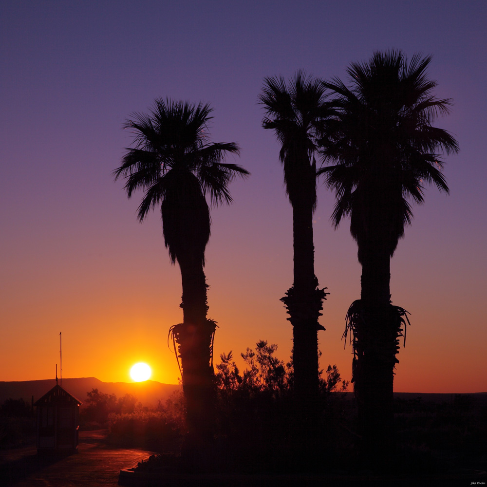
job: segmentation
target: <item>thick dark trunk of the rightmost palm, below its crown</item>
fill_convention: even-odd
[[[361,256],[363,321],[357,330],[354,371],[358,432],[367,468],[391,465],[393,455],[393,368],[396,328],[390,305],[390,256],[375,242]]]

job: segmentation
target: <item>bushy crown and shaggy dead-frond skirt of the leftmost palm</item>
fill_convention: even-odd
[[[209,105],[157,99],[149,115],[135,113],[124,128],[134,132],[135,147],[127,149],[115,179],[127,177],[129,198],[137,189],[145,195],[138,209],[142,221],[161,205],[164,241],[171,262],[196,252],[204,263],[210,235],[210,202],[231,203],[228,184],[249,173],[236,164],[222,162],[226,152],[239,153],[234,142],[209,143]]]

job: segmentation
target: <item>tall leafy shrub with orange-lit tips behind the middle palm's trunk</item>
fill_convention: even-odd
[[[275,354],[277,345],[260,340],[255,349],[241,354],[246,369],[241,372],[232,352],[222,354],[216,365],[218,386],[217,455],[222,468],[239,469],[247,473],[270,468],[290,472],[300,470],[296,454],[296,414],[299,401],[293,397],[293,363],[285,363]],[[337,366],[320,371],[320,420],[316,425],[323,431],[330,420],[327,411],[334,406],[334,415],[341,414],[341,395],[348,383],[341,380]],[[340,400],[340,405],[337,400]],[[321,447],[320,447],[321,448]],[[331,449],[330,449],[331,450]]]

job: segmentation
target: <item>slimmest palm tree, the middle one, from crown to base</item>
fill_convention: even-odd
[[[294,283],[282,298],[293,326],[294,391],[305,401],[305,415],[313,414],[318,396],[318,323],[323,289],[315,276],[313,213],[316,208],[316,137],[327,116],[324,88],[318,80],[299,71],[286,85],[282,77],[264,79],[259,100],[281,143],[284,183],[293,207]],[[326,288],[325,288],[326,289]],[[316,425],[313,425],[316,427]]]

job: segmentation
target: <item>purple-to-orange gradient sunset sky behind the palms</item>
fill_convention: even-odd
[[[411,312],[394,389],[487,391],[487,2],[24,1],[0,6],[0,380],[63,376],[130,381],[146,361],[176,383],[167,345],[182,321],[179,268],[160,213],[136,220],[113,182],[131,134],[122,124],[157,97],[208,102],[214,142],[236,141],[252,176],[234,204],[212,210],[206,250],[215,357],[259,339],[284,360],[291,325],[279,298],[292,284],[292,210],[279,145],[261,128],[264,76],[296,70],[346,78],[375,50],[432,54],[435,94],[451,97],[460,152],[446,157],[450,196],[430,188],[391,264],[393,303]],[[321,365],[350,379],[340,340],[361,269],[349,222],[330,224],[321,185],[315,268],[331,295],[319,332]],[[239,362],[240,363],[240,362]]]

